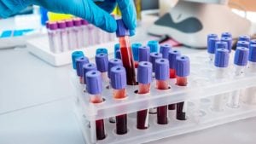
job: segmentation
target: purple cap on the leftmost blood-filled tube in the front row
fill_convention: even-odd
[[[86,73],[85,78],[86,78],[86,90],[90,95],[98,95],[102,93],[101,72],[92,70]]]

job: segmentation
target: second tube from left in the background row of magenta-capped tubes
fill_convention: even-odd
[[[61,33],[61,52],[68,50],[68,37],[66,27],[66,21],[58,21],[59,32]]]

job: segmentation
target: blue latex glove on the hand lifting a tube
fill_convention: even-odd
[[[118,4],[125,26],[131,30],[131,35],[134,35],[137,15],[133,0],[97,1],[101,2],[95,3],[93,0],[1,0],[0,17],[6,18],[21,9],[25,9],[28,5],[36,4],[55,13],[79,16],[107,32],[115,32],[117,29],[116,21],[109,13]]]

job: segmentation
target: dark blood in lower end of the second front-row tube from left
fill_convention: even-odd
[[[127,133],[127,114],[116,116],[116,133],[124,135]]]

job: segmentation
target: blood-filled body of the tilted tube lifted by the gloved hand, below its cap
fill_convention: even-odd
[[[129,37],[119,37],[120,52],[123,65],[126,71],[126,78],[128,85],[136,85],[136,74],[133,55],[131,53],[131,44]]]

